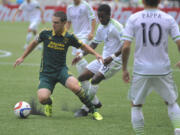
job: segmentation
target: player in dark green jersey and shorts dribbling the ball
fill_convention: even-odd
[[[66,53],[68,47],[73,46],[95,55],[98,60],[103,61],[103,58],[91,47],[79,41],[73,34],[66,32],[66,21],[67,17],[64,12],[55,12],[52,17],[53,30],[42,31],[38,38],[29,44],[24,54],[16,60],[14,67],[21,64],[24,58],[28,56],[40,42],[43,42],[44,49],[39,77],[40,84],[37,94],[39,102],[45,105],[45,115],[52,115],[52,99],[50,96],[53,93],[56,83],[59,82],[74,92],[81,102],[90,108],[94,119],[102,120],[103,117],[96,111],[87,93],[79,86],[78,80],[68,73]]]

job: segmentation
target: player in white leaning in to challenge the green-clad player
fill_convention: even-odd
[[[96,105],[97,108],[101,107],[101,103],[95,95],[98,89],[98,84],[104,79],[111,78],[121,69],[121,56],[115,58],[114,53],[117,49],[122,47],[121,36],[123,29],[123,26],[119,22],[111,18],[111,8],[107,4],[99,6],[98,19],[101,24],[98,26],[96,36],[90,46],[96,48],[98,44],[104,42],[102,56],[104,59],[110,57],[113,61],[111,64],[104,66],[102,63],[94,60],[87,65],[84,72],[78,77],[82,86],[84,85],[84,81],[92,79],[89,90],[87,89],[87,91],[92,98],[92,103]],[[85,54],[86,53],[83,55]],[[76,60],[81,56],[82,54],[77,56],[76,59],[74,59],[73,64],[76,63]],[[75,113],[75,116],[77,117],[87,115],[88,108],[84,105]]]

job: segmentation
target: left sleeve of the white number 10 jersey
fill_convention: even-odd
[[[127,20],[126,26],[123,30],[123,36],[122,36],[123,40],[128,40],[128,41],[133,40],[133,37],[134,37],[133,24],[134,23],[133,23],[132,17],[129,17],[129,19]]]

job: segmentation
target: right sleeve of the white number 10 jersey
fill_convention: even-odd
[[[170,35],[175,42],[180,40],[179,26],[173,17],[171,19]]]

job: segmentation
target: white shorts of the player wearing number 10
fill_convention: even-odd
[[[178,97],[171,73],[161,76],[143,76],[134,73],[128,98],[134,105],[144,104],[146,96],[152,90],[155,90],[169,104],[175,103]]]

